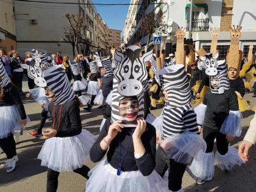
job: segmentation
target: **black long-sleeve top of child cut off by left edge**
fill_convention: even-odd
[[[27,119],[25,108],[22,103],[22,99],[20,99],[18,89],[15,86],[13,86],[11,83],[9,83],[3,89],[4,89],[4,93],[2,95],[2,100],[0,100],[0,108],[1,106],[10,106],[15,104],[17,106],[20,117],[22,119]],[[10,118],[14,118],[14,117],[10,117]]]

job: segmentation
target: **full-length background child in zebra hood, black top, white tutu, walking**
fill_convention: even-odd
[[[92,95],[92,98],[91,98],[91,103],[88,103],[88,107],[84,109],[90,112],[92,111],[92,107],[94,105],[94,99],[98,94],[98,92],[101,90],[101,76],[99,73],[98,64],[95,60],[91,61],[89,63],[89,66],[90,66],[91,74],[90,74],[90,81],[88,83],[87,93],[89,95]]]

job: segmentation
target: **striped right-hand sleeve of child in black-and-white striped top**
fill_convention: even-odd
[[[186,130],[194,133],[199,133],[197,126],[197,115],[193,110],[188,110],[183,113],[183,121]]]

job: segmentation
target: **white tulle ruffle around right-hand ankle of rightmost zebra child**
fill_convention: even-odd
[[[216,152],[214,158],[215,164],[222,170],[230,170],[234,165],[241,165],[244,161],[239,157],[237,148],[228,146],[228,152],[225,155],[221,155]]]

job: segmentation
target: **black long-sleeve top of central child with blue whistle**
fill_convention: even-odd
[[[110,118],[106,119],[105,124],[102,127],[102,130],[99,134],[98,139],[94,143],[90,151],[90,157],[93,162],[100,161],[104,155],[106,154],[107,150],[104,151],[100,147],[101,140],[108,135],[109,127],[111,125]],[[127,143],[129,142],[131,133],[133,131],[132,127],[125,127],[122,129],[122,132],[118,133],[121,134],[121,158],[123,157],[125,148]],[[108,158],[108,162],[111,164],[112,167],[116,168],[119,166],[119,135],[112,140],[109,151],[106,154]],[[128,153],[124,158],[122,164],[122,171],[123,172],[131,172],[135,170],[139,170],[143,176],[150,175],[156,165],[156,130],[155,127],[149,123],[146,125],[146,130],[141,136],[141,141],[143,146],[145,147],[145,153],[139,159],[134,157],[134,145],[133,145],[133,138],[131,139],[131,143],[128,148]]]

